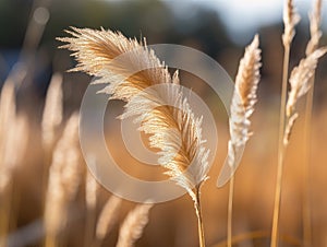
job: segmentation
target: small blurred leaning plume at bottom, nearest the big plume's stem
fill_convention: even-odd
[[[134,246],[148,222],[148,214],[152,208],[153,204],[141,204],[128,214],[120,227],[117,247]]]

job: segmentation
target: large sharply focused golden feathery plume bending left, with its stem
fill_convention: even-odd
[[[97,83],[109,83],[101,92],[126,102],[121,118],[137,116],[140,130],[150,134],[150,146],[160,150],[158,163],[193,199],[203,247],[199,190],[207,179],[208,151],[202,139],[202,118],[195,118],[181,90],[173,86],[179,85],[178,72],[171,77],[145,40],[140,44],[105,30],[72,27],[68,33],[73,37],[59,40],[68,43],[62,48],[74,51],[78,61],[72,71],[84,71],[99,78]],[[165,92],[149,90],[158,84],[166,86]],[[169,106],[171,102],[177,108]]]

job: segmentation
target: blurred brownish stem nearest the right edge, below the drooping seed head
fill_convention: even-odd
[[[311,224],[311,205],[310,205],[310,158],[311,158],[311,124],[314,96],[314,81],[306,95],[305,116],[304,116],[304,163],[303,163],[303,238],[304,246],[312,246],[312,224]]]

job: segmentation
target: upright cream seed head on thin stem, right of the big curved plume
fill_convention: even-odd
[[[230,141],[228,143],[228,157],[218,178],[218,186],[223,185],[230,178],[227,246],[232,246],[232,201],[234,187],[234,172],[240,162],[250,133],[250,117],[254,111],[257,101],[256,91],[259,82],[261,49],[256,35],[251,45],[245,49],[244,57],[240,61],[239,72],[235,79],[235,89],[231,103]],[[226,172],[228,170],[228,172]]]

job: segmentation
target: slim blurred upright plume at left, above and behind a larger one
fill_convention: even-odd
[[[45,109],[41,121],[43,142],[45,146],[51,146],[56,137],[56,130],[62,121],[62,75],[52,75],[47,92]]]

